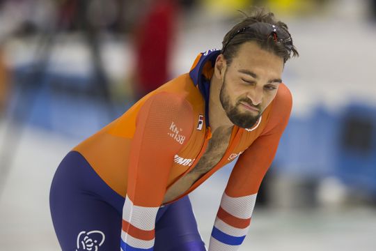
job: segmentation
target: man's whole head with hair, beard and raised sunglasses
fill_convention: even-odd
[[[222,44],[214,69],[221,105],[233,124],[251,128],[275,98],[284,63],[297,50],[287,26],[263,9],[236,24]]]

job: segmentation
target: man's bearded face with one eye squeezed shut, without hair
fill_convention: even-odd
[[[276,96],[282,71],[279,56],[255,42],[240,45],[222,78],[219,98],[228,119],[241,128],[251,128]]]

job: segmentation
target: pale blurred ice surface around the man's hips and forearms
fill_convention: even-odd
[[[75,144],[35,128],[24,132],[0,201],[0,250],[60,250],[49,215],[49,185],[61,158]],[[216,174],[190,195],[205,243],[225,182]],[[240,251],[373,251],[375,233],[375,208],[282,210],[256,204]]]

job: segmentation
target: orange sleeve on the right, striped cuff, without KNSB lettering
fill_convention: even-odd
[[[210,237],[210,251],[233,251],[242,244],[251,223],[258,188],[272,164],[291,108],[291,93],[283,88],[274,100],[262,135],[240,155],[231,172]]]

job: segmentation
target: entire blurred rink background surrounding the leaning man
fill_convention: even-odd
[[[301,55],[294,106],[240,250],[376,250],[376,1],[0,1],[0,250],[60,250],[52,176],[72,147],[267,6]],[[208,243],[231,166],[191,194]]]

